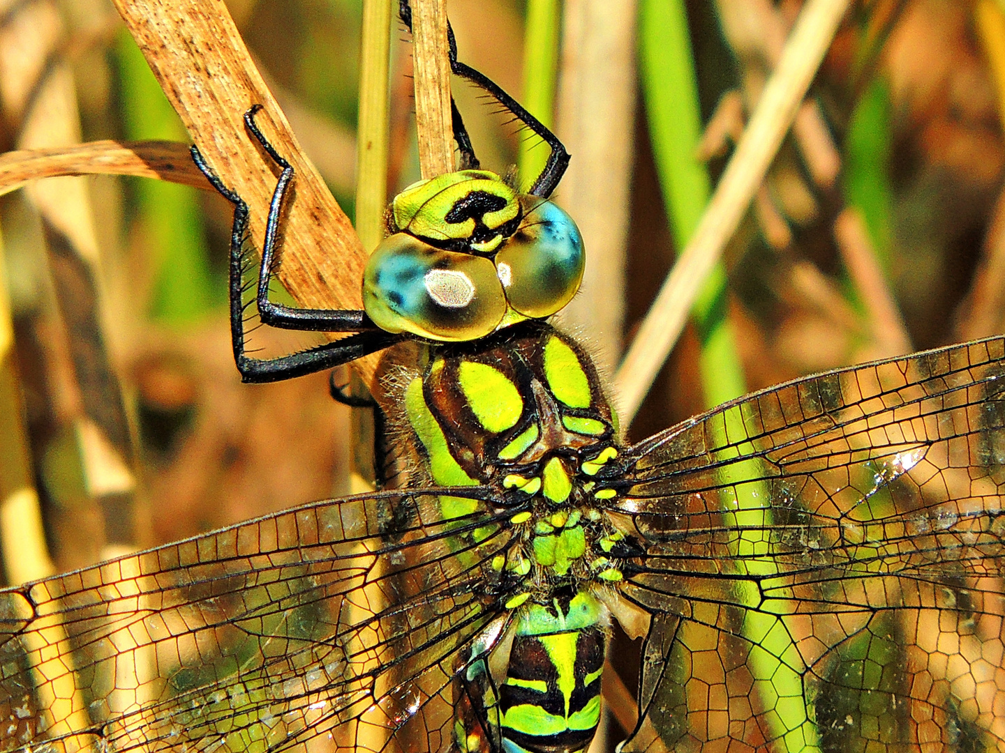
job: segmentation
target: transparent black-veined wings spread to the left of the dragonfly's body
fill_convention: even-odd
[[[0,591],[0,749],[445,750],[508,538],[378,493]]]

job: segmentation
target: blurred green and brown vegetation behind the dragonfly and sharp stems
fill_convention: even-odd
[[[460,58],[572,153],[556,198],[583,229],[592,271],[561,318],[609,369],[800,5],[449,0]],[[228,6],[352,216],[363,1]],[[393,27],[388,199],[418,178],[410,46]],[[477,90],[455,81],[454,94],[482,165],[519,163],[529,182],[544,147]],[[1003,102],[998,0],[852,3],[629,436],[800,374],[1001,332]],[[0,112],[3,151],[187,141],[107,0],[0,2]],[[0,374],[0,480],[5,493],[37,490],[53,567],[348,491],[350,413],[328,397],[328,375],[239,383],[220,197],[54,179],[3,196],[0,230],[15,343]],[[311,340],[259,329],[252,342]],[[11,581],[33,574],[6,550],[5,564]]]

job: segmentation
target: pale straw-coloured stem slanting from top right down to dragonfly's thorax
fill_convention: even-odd
[[[849,0],[807,0],[705,214],[625,355],[615,388],[630,423],[676,341],[702,281],[736,232],[792,123]]]

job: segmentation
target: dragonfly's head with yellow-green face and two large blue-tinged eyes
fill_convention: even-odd
[[[494,173],[464,170],[395,197],[364,273],[363,305],[389,332],[462,342],[565,306],[583,279],[576,223]]]

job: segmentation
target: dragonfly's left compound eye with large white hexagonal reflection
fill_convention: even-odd
[[[363,307],[381,329],[458,341],[492,332],[506,314],[494,265],[406,233],[385,238],[363,275]]]

